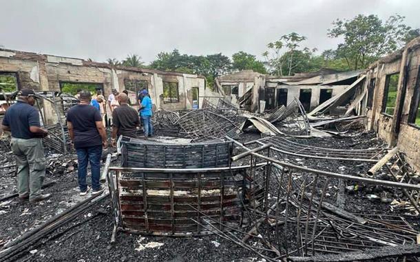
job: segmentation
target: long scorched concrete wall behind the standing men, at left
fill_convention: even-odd
[[[70,57],[57,57],[16,50],[0,49],[0,73],[17,74],[18,88],[60,91],[63,82],[96,83],[101,85],[105,97],[115,88],[122,92],[126,89],[125,80],[147,81],[147,88],[156,110],[186,110],[193,104],[193,88],[198,88],[199,106],[205,92],[205,79],[195,74],[165,72],[145,68],[111,66]],[[163,82],[178,84],[178,101],[164,103]],[[54,123],[52,108],[45,105],[45,116]]]

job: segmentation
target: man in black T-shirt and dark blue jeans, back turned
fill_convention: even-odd
[[[78,161],[78,187],[84,196],[90,190],[86,183],[87,161],[92,170],[92,194],[101,194],[105,189],[100,183],[102,149],[107,148],[107,134],[101,113],[90,105],[92,94],[83,90],[80,103],[67,112],[67,128],[74,143]]]

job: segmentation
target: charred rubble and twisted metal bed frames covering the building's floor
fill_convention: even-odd
[[[39,205],[18,201],[5,137],[0,261],[417,261],[419,172],[360,119],[315,119],[298,100],[161,110],[155,137],[118,139],[108,192],[85,198],[58,123]]]

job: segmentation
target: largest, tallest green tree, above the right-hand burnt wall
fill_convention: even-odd
[[[374,14],[359,14],[351,20],[337,19],[327,35],[344,39],[335,50],[336,57],[344,59],[349,70],[357,70],[419,35],[419,29],[412,29],[403,21],[404,17],[398,14],[386,21]]]

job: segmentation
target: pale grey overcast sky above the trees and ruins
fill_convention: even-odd
[[[304,46],[335,48],[326,31],[333,20],[392,14],[420,28],[420,0],[1,0],[0,45],[65,57],[149,63],[174,48],[187,54],[261,57],[282,34],[306,36]]]

